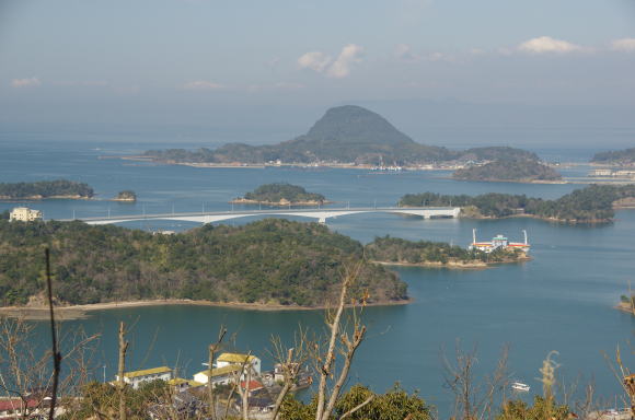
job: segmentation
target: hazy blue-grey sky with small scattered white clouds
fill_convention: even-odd
[[[0,0],[3,132],[274,142],[359,104],[423,142],[628,141],[634,93],[634,0]]]

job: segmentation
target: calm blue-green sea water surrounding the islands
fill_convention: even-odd
[[[370,174],[344,170],[203,170],[163,166],[100,155],[138,152],[146,147],[104,147],[102,143],[47,143],[34,145],[0,143],[0,182],[69,178],[93,186],[92,201],[53,200],[28,203],[45,218],[130,214],[175,211],[228,210],[227,203],[261,184],[286,180],[300,184],[330,199],[350,206],[394,205],[406,192],[527,194],[555,198],[577,188],[570,185],[520,185],[506,183],[459,183],[448,173],[414,172]],[[95,150],[101,148],[101,150]],[[575,170],[584,173],[584,170]],[[575,174],[575,172],[574,172]],[[117,191],[132,189],[134,205],[107,201]],[[15,203],[0,203],[0,211]],[[351,372],[351,383],[362,382],[384,390],[394,382],[422,395],[446,412],[450,395],[442,387],[441,354],[451,355],[457,340],[464,348],[476,346],[478,369],[490,370],[499,350],[510,345],[513,377],[532,385],[541,361],[557,350],[558,374],[567,383],[584,375],[594,380],[601,395],[619,393],[619,384],[607,368],[602,352],[626,346],[634,318],[612,308],[625,293],[635,272],[635,212],[621,211],[617,221],[603,226],[569,226],[529,219],[499,221],[424,221],[391,214],[360,214],[328,220],[328,226],[359,241],[378,235],[409,240],[435,240],[465,245],[472,229],[481,238],[505,233],[521,237],[527,229],[533,261],[482,271],[399,269],[415,302],[406,306],[372,307],[366,313],[369,336]],[[253,219],[235,220],[244,223]],[[184,230],[194,224],[134,222],[135,229]],[[299,325],[321,331],[319,312],[251,312],[213,307],[157,306],[94,313],[89,319],[69,322],[103,334],[97,365],[115,370],[116,325],[135,323],[130,335],[129,365],[178,365],[182,375],[200,370],[206,346],[219,326],[235,334],[240,350],[259,354],[270,365],[266,349],[272,335],[290,340]],[[446,350],[443,350],[446,349]],[[97,371],[101,377],[101,369]]]

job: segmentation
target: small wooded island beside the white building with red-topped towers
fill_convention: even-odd
[[[388,235],[376,237],[366,245],[365,252],[367,258],[377,262],[422,267],[483,268],[493,264],[530,259],[520,250],[497,249],[487,254],[442,242],[413,242]]]

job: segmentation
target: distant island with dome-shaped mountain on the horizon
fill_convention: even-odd
[[[166,163],[355,163],[415,165],[453,160],[538,159],[512,148],[476,148],[450,151],[420,144],[397,130],[381,115],[356,105],[331,108],[307,135],[273,145],[230,143],[216,150],[171,149],[148,151],[146,156]]]

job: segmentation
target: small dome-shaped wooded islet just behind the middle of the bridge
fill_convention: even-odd
[[[326,198],[316,192],[309,192],[303,187],[287,183],[261,185],[244,197],[230,202],[235,205],[265,205],[276,207],[287,206],[322,206],[330,203]]]

